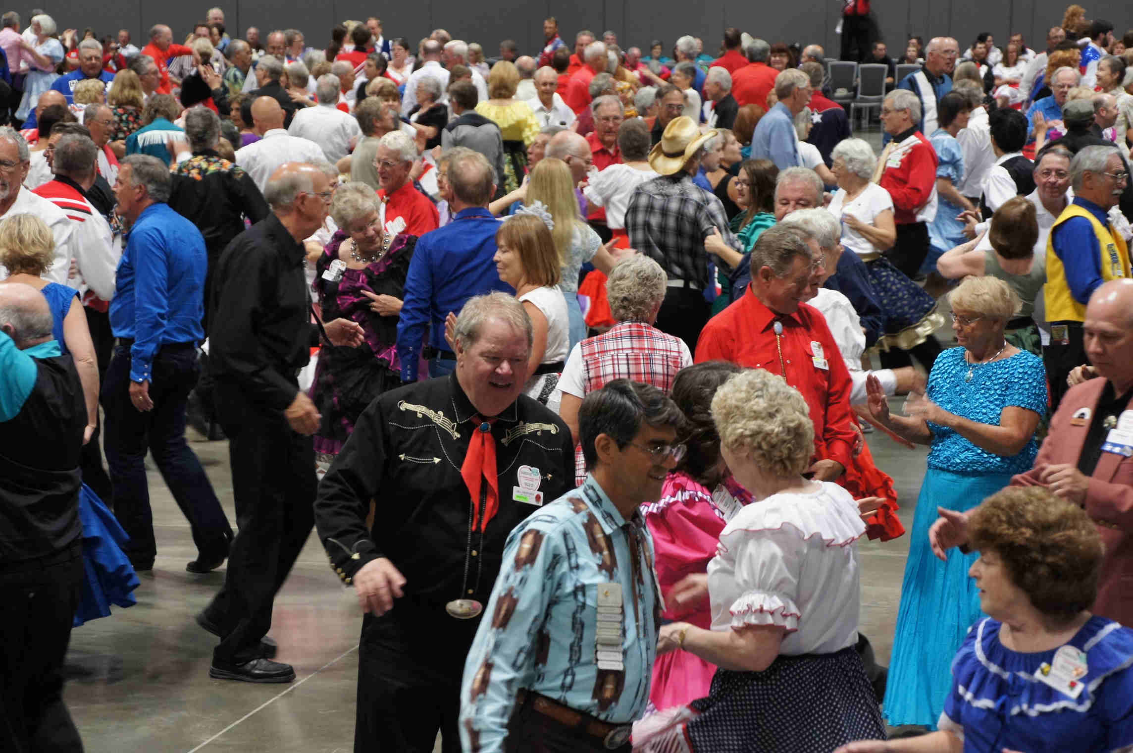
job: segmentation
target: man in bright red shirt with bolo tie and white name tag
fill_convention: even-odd
[[[751,269],[748,291],[700,332],[696,362],[765,369],[798,389],[815,423],[808,471],[816,481],[836,481],[851,465],[857,432],[850,372],[826,319],[803,303],[823,278],[823,253],[799,228],[776,225],[756,242]]]

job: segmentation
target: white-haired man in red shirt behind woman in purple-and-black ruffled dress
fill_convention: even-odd
[[[377,168],[377,185],[381,189],[377,197],[382,200],[383,231],[387,231],[386,244],[397,235],[398,218],[404,220],[404,232],[423,236],[429,230],[436,230],[441,217],[436,205],[428,196],[414,187],[409,174],[417,160],[417,146],[401,130],[393,130],[377,143],[377,156],[374,167]],[[391,222],[394,226],[391,227]],[[386,245],[383,244],[383,245]],[[386,247],[389,247],[386,245]]]

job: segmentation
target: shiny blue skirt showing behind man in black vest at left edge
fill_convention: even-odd
[[[133,607],[137,603],[130,593],[138,587],[134,566],[122,553],[129,536],[91,488],[83,484],[78,494],[78,517],[83,523],[83,594],[75,626],[100,617],[110,616],[110,604]]]

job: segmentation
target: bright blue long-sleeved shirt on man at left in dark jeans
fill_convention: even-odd
[[[168,204],[142,210],[118,262],[110,329],[133,338],[130,381],[153,379],[153,357],[163,345],[205,339],[205,239]]]

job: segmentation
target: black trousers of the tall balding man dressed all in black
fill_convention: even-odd
[[[259,655],[275,593],[315,525],[315,448],[282,413],[252,405],[230,383],[218,383],[216,409],[228,434],[238,532],[224,585],[205,611],[223,636],[213,658],[242,663]]]

